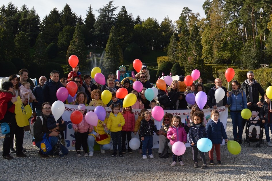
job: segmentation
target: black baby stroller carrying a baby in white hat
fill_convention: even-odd
[[[256,111],[260,113],[260,107],[257,106],[256,104],[252,105],[249,108],[251,111]],[[259,116],[259,115],[258,115]],[[253,123],[251,123],[251,121],[254,121]],[[257,122],[256,122],[257,121]],[[255,123],[256,122],[256,123]],[[256,139],[256,128],[254,127],[252,130],[252,137],[249,138],[249,127],[250,125],[259,125],[260,126],[260,135],[259,135],[259,139]],[[246,138],[244,138],[244,142],[247,142],[247,146],[250,146],[250,142],[256,143],[255,146],[256,148],[260,148],[260,144],[263,143],[263,123],[261,120],[248,120],[246,121]]]

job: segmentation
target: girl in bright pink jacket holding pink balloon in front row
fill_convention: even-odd
[[[179,116],[174,116],[172,118],[166,137],[170,140],[171,145],[173,145],[177,141],[181,141],[184,144],[187,142],[187,134],[181,124],[181,118]],[[171,164],[171,166],[174,167],[177,163],[177,160],[181,166],[184,166],[184,163],[182,162],[182,155],[177,156],[175,154],[173,154],[173,163]]]

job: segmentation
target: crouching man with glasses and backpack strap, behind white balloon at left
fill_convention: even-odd
[[[41,121],[40,117],[37,117],[34,127],[33,127],[35,143],[36,143],[37,147],[39,148],[39,145],[41,144],[43,137],[45,136],[48,139],[48,141],[49,141],[49,137],[50,137],[50,144],[52,146],[52,150],[48,153],[42,153],[41,148],[40,148],[39,155],[42,158],[48,158],[49,157],[48,155],[53,154],[53,150],[54,150],[55,146],[60,146],[62,154],[67,155],[68,154],[67,148],[65,148],[65,146],[60,144],[60,142],[58,141],[58,135],[60,134],[60,131],[65,130],[66,125],[60,124],[57,127],[55,127],[54,129],[48,130],[47,129],[47,119],[48,118],[54,119],[54,116],[51,114],[50,102],[44,102],[42,104],[41,110],[42,110],[41,116],[43,118],[43,121]],[[62,117],[60,117],[59,119],[62,119]]]

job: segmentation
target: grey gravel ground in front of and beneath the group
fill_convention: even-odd
[[[233,139],[231,119],[227,122],[227,135]],[[191,147],[187,147],[183,155],[185,166],[171,167],[172,155],[159,158],[158,149],[153,149],[154,159],[146,160],[136,150],[133,154],[124,154],[123,158],[111,158],[112,151],[106,154],[95,151],[91,158],[76,157],[75,151],[69,151],[64,159],[42,159],[31,140],[25,132],[26,158],[0,158],[0,180],[272,180],[272,147],[268,147],[266,141],[260,148],[254,143],[249,148],[243,144],[239,155],[231,155],[227,145],[221,146],[222,165],[208,165],[208,169],[203,170],[193,168]],[[2,147],[3,141],[0,149]],[[206,159],[208,162],[208,153]],[[201,163],[199,160],[199,165]]]

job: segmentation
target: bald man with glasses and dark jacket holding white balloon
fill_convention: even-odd
[[[214,84],[215,86],[212,87],[212,89],[210,89],[210,91],[208,92],[208,100],[207,100],[208,106],[214,109],[220,106],[229,107],[229,105],[227,104],[227,89],[224,86],[222,86],[221,79],[218,79],[218,78],[215,79]],[[220,102],[216,103],[214,93],[217,89],[220,89],[220,88],[222,88],[225,91],[225,96],[222,100],[220,100]]]

